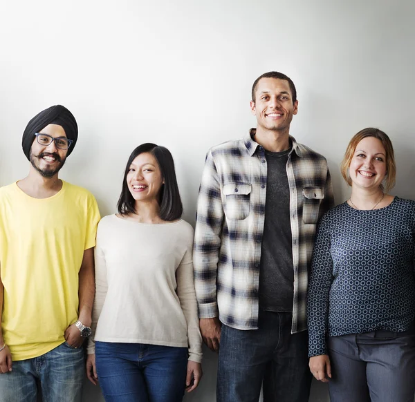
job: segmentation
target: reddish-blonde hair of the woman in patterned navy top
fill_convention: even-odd
[[[344,153],[344,157],[342,163],[340,164],[340,171],[342,172],[342,176],[344,180],[346,180],[347,184],[351,186],[351,178],[349,176],[349,166],[351,160],[353,159],[353,155],[356,151],[356,146],[358,146],[359,142],[366,137],[374,137],[377,138],[380,142],[382,142],[383,148],[386,151],[386,176],[384,183],[380,184],[380,188],[387,193],[390,189],[392,189],[395,185],[396,180],[396,164],[395,164],[395,156],[394,156],[394,147],[392,146],[391,140],[387,136],[386,133],[379,130],[378,128],[363,128],[363,130],[359,131],[353,138],[350,140],[349,145],[347,146],[346,152]]]

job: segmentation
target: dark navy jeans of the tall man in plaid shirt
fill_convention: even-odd
[[[291,334],[292,314],[259,312],[259,329],[222,325],[217,402],[307,402],[308,334]]]

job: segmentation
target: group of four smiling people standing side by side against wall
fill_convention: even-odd
[[[100,219],[58,178],[75,117],[30,120],[29,173],[0,188],[0,402],[79,402],[85,366],[107,402],[179,402],[202,340],[218,402],[306,402],[313,376],[332,402],[413,402],[415,202],[388,193],[389,137],[354,135],[334,207],[326,159],[290,135],[293,81],[261,75],[250,108],[256,128],[206,155],[194,230],[165,147],[133,150]]]

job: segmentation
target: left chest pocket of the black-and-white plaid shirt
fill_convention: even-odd
[[[223,186],[223,211],[227,219],[245,219],[250,211],[251,185],[230,183]]]

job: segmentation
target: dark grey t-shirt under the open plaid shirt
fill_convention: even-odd
[[[293,312],[293,240],[286,172],[290,151],[265,151],[268,169],[259,271],[259,307],[271,312]]]

